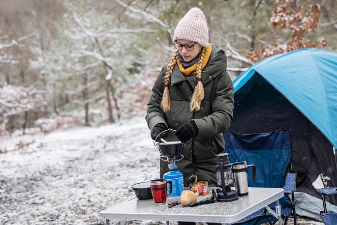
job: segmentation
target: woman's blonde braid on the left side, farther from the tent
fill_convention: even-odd
[[[168,83],[170,82],[170,77],[172,75],[172,70],[174,68],[174,65],[177,63],[178,60],[178,50],[176,50],[172,56],[172,59],[167,66],[167,70],[165,73],[165,88],[164,88],[164,93],[163,93],[163,99],[160,104],[161,109],[166,113],[167,111],[170,110],[171,108],[171,101],[170,101],[170,90],[168,88]]]

